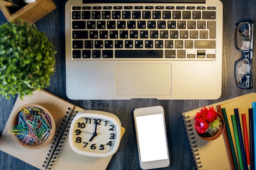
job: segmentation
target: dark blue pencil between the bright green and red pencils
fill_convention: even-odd
[[[242,133],[242,128],[241,128],[238,108],[234,108],[234,112],[235,112],[235,116],[236,116],[238,136],[239,136],[239,140],[240,140],[240,147],[241,147],[241,152],[242,152],[242,157],[243,157],[243,165],[244,165],[244,169],[248,170],[247,159],[246,159],[246,155],[245,155],[245,145],[244,145],[244,142],[243,142],[243,133]]]

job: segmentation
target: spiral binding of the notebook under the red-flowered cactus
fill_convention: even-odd
[[[189,143],[189,148],[193,157],[193,165],[194,165],[193,170],[199,170],[199,168],[202,168],[202,165],[200,165],[201,161],[200,161],[200,157],[199,157],[199,153],[198,153],[198,149],[197,149],[197,145],[194,137],[194,132],[191,132],[193,130],[192,124],[190,120],[186,120],[186,119],[189,119],[189,116],[184,117],[183,121],[186,128],[186,135]]]

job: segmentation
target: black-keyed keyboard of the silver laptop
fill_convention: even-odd
[[[72,60],[215,60],[216,7],[131,3],[71,10]]]

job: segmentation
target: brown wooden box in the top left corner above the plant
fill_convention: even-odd
[[[26,4],[21,8],[7,7],[0,4],[0,9],[9,22],[22,19],[27,24],[33,24],[47,13],[56,9],[56,6],[52,0],[36,0],[36,2]]]

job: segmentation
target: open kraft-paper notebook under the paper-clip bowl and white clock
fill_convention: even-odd
[[[31,95],[31,97],[24,97],[23,100],[21,100],[19,97],[17,98],[16,103],[13,106],[13,110],[11,111],[10,117],[7,121],[7,124],[4,128],[4,131],[2,132],[2,136],[0,138],[0,150],[26,163],[29,163],[30,165],[38,169],[45,170],[43,165],[45,166],[48,163],[46,158],[52,155],[52,153],[50,153],[49,150],[51,150],[51,146],[54,147],[54,145],[52,144],[54,140],[43,148],[27,149],[20,146],[13,139],[12,135],[8,133],[8,130],[10,129],[11,117],[15,112],[15,110],[17,110],[20,106],[24,104],[31,104],[31,103],[44,106],[45,108],[47,108],[47,110],[49,110],[50,113],[52,113],[56,123],[55,135],[58,135],[58,131],[61,131],[58,127],[62,127],[63,129],[63,126],[61,125],[61,123],[65,124],[65,122],[63,122],[63,119],[66,119],[65,121],[69,121],[69,122],[72,121],[72,119],[67,120],[67,118],[65,118],[65,115],[67,115],[67,117],[71,113],[75,115],[77,112],[83,109],[77,106],[74,106],[73,104],[70,104],[65,100],[60,99],[43,90],[35,91],[34,94]],[[56,152],[58,152],[58,155],[54,155],[56,156],[56,159],[52,159],[54,160],[54,162],[53,163],[49,162],[49,165],[47,168],[51,168],[51,170],[72,170],[72,169],[106,170],[112,156],[109,156],[106,158],[100,158],[100,157],[88,157],[85,155],[79,155],[78,153],[74,152],[70,147],[69,140],[68,140],[69,138],[68,132],[65,132],[65,133],[67,134],[67,136],[65,136],[65,140],[61,140],[61,142],[63,141],[63,144],[61,144],[62,147],[60,148],[60,151],[56,150]],[[122,135],[123,134],[124,134],[124,128],[122,129]],[[59,137],[62,138],[62,136],[60,135]],[[58,137],[54,137],[54,138],[58,139]]]

